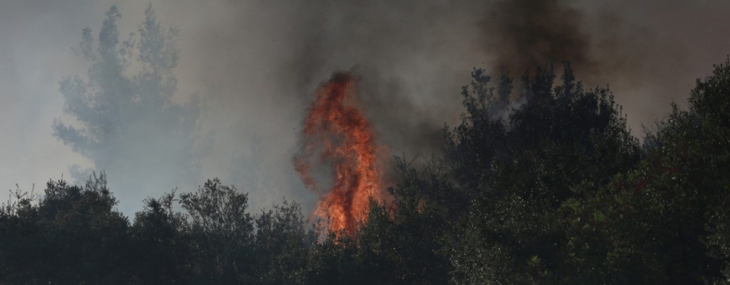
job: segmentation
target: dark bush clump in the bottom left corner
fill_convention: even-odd
[[[128,222],[116,203],[102,173],[83,188],[50,181],[37,204],[25,197],[5,207],[0,283],[125,283]]]

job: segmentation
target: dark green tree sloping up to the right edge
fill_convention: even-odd
[[[697,81],[690,110],[650,132],[645,158],[594,196],[566,203],[575,266],[589,280],[723,283],[727,274],[730,65]],[[721,270],[723,275],[721,275]]]

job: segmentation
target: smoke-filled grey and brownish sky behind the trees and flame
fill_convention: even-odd
[[[93,167],[53,136],[55,119],[72,121],[59,82],[86,76],[72,51],[83,28],[98,33],[116,4],[126,36],[150,3],[163,25],[180,28],[173,100],[204,101],[198,134],[211,143],[197,185],[220,177],[250,193],[253,209],[284,198],[305,211],[315,204],[291,159],[313,93],[335,71],[360,78],[380,143],[412,157],[437,152],[440,129],[458,122],[473,68],[515,74],[530,60],[575,56],[565,60],[577,78],[610,86],[640,135],[670,103],[685,107],[695,79],[730,53],[728,1],[0,0],[0,190],[39,192],[71,166]],[[536,41],[548,49],[520,48]],[[562,42],[566,50],[553,49]],[[196,188],[160,180],[167,186],[132,192],[115,185],[139,177],[107,174],[128,215],[147,196]]]

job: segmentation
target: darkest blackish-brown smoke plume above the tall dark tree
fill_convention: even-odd
[[[580,67],[593,64],[583,13],[564,1],[500,1],[489,15],[482,28],[496,72],[521,75],[564,60]]]

